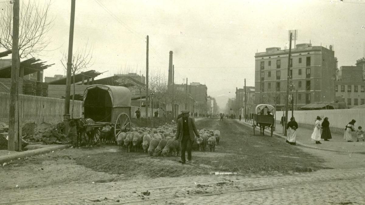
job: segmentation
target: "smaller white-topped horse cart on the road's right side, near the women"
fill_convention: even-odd
[[[260,127],[260,134],[264,135],[265,128],[271,128],[271,137],[273,136],[275,126],[275,108],[271,105],[260,104],[256,106],[256,114],[253,121],[253,134],[255,135],[255,127]]]

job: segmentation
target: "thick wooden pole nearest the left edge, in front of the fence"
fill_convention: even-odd
[[[19,0],[13,1],[13,36],[11,53],[11,86],[10,86],[10,105],[9,105],[9,138],[8,150],[22,150],[22,136],[19,136],[19,102],[18,102],[18,80],[19,80]],[[20,149],[19,149],[20,147]]]

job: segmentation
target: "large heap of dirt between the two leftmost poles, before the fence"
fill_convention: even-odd
[[[44,144],[66,144],[70,141],[56,125],[50,123],[26,123],[22,128],[23,139]]]

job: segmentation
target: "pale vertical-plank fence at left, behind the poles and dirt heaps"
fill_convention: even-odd
[[[65,99],[19,94],[20,118],[23,122],[59,122],[63,120]],[[9,121],[10,94],[0,92],[0,121]],[[70,112],[72,100],[70,101]],[[82,101],[75,100],[74,118],[80,118]]]

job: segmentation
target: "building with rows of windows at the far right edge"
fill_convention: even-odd
[[[341,97],[345,100],[347,108],[356,107],[365,104],[365,82],[364,69],[360,66],[341,66],[338,71],[337,81],[335,82],[336,97]],[[364,59],[365,60],[365,59]]]

